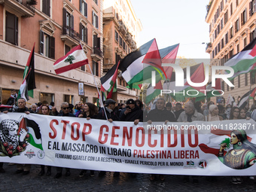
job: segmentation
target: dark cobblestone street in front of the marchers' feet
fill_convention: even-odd
[[[149,175],[138,174],[133,178],[129,173],[120,173],[119,178],[113,177],[113,172],[103,176],[90,177],[90,172],[80,178],[78,169],[71,169],[71,175],[55,179],[56,169],[52,175],[38,176],[40,166],[32,165],[29,175],[15,174],[16,166],[4,164],[5,173],[0,174],[1,191],[255,191],[255,180],[243,177],[242,184],[231,184],[230,177],[218,177],[217,181],[208,181],[206,177],[199,178],[199,184],[184,183],[181,175],[166,175],[165,181],[149,181]],[[191,178],[190,178],[191,181]]]

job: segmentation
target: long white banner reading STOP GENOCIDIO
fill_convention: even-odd
[[[255,175],[254,120],[139,123],[0,114],[0,162],[175,175]]]

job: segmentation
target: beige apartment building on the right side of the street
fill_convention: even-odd
[[[212,0],[207,5],[206,23],[209,23],[209,39],[206,52],[211,56],[211,66],[223,66],[227,59],[239,53],[255,38],[255,0]],[[222,73],[221,71],[219,71]],[[235,102],[255,85],[254,72],[239,75],[229,87],[224,81],[224,101],[230,94]],[[250,104],[252,104],[252,100]]]

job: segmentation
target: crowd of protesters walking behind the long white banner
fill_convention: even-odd
[[[8,99],[8,105],[14,105],[17,96],[12,93],[10,99]],[[17,106],[13,108],[0,108],[1,112],[8,113],[11,111],[20,113],[35,113],[41,115],[53,115],[62,117],[79,117],[90,119],[108,119],[109,122],[113,121],[131,121],[135,125],[139,122],[192,122],[195,120],[200,121],[214,121],[214,120],[237,120],[237,119],[253,119],[256,120],[255,104],[245,105],[243,108],[238,108],[232,105],[215,105],[214,102],[203,104],[201,102],[194,102],[190,100],[185,103],[166,102],[165,99],[156,99],[153,104],[145,105],[141,100],[128,99],[126,103],[117,104],[113,99],[107,99],[104,102],[102,108],[98,108],[96,105],[90,102],[75,102],[75,105],[68,102],[62,102],[61,108],[58,111],[54,102],[50,104],[46,101],[38,102],[31,105],[31,108],[26,107],[26,100],[23,98],[17,99]],[[29,174],[31,165],[29,164],[17,164],[17,174],[27,175]],[[47,166],[46,175],[51,175],[51,166]],[[0,163],[0,172],[5,172],[3,169],[3,163]],[[56,175],[54,178],[62,177],[62,167],[56,167]],[[87,170],[81,169],[80,177],[86,174]],[[45,166],[41,165],[41,171],[39,176],[45,174]],[[66,168],[66,176],[71,175],[69,168]],[[94,176],[94,170],[90,170],[90,176]],[[104,176],[105,171],[100,171],[99,176]],[[114,172],[114,177],[120,175],[120,172]],[[135,173],[132,173],[136,176]],[[157,175],[150,175],[150,180],[154,181]],[[164,175],[160,175],[160,180],[163,181]],[[193,183],[198,183],[198,176],[192,176]],[[189,181],[189,176],[184,176],[184,182]],[[241,183],[240,177],[233,177],[233,183]]]

